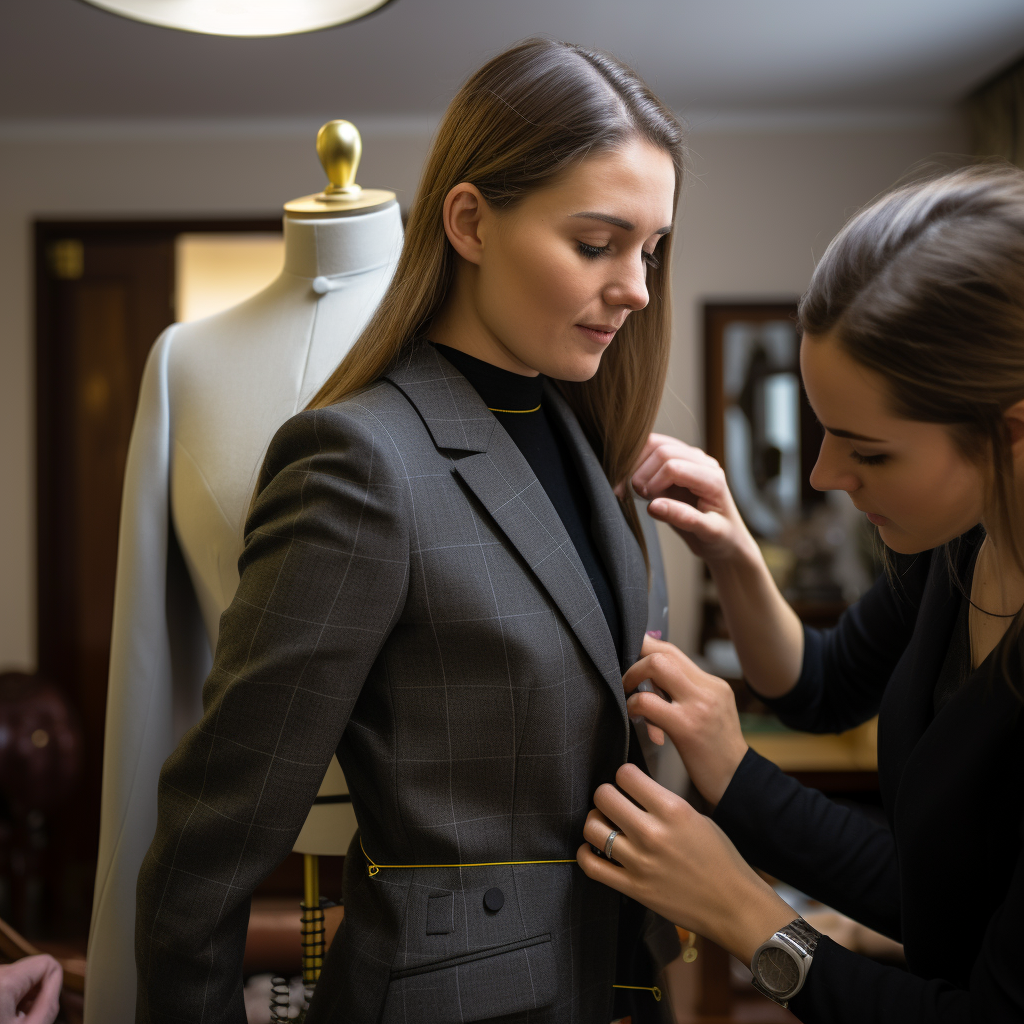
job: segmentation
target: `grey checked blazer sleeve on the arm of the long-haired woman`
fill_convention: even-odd
[[[138,1021],[244,1024],[251,893],[292,849],[404,605],[400,462],[353,409],[293,418],[264,462],[204,717],[160,776],[136,894]]]

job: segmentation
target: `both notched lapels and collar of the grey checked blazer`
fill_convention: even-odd
[[[605,559],[623,618],[623,660],[597,597],[562,521],[522,453],[472,385],[425,342],[386,374],[412,402],[439,449],[464,453],[455,472],[473,492],[565,616],[611,687],[623,721],[622,672],[640,653],[647,621],[643,557],[580,424],[558,391],[545,400],[572,452],[593,511],[594,538]]]

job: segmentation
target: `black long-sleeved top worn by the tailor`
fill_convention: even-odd
[[[964,672],[956,629],[983,536],[953,543],[952,569],[941,549],[901,557],[835,629],[805,629],[796,687],[768,701],[814,732],[879,713],[887,823],[753,751],[715,810],[751,863],[903,943],[909,971],[822,938],[790,1004],[807,1024],[1024,1021],[1021,665],[1008,683],[996,647]]]

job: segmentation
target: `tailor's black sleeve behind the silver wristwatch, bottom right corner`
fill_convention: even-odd
[[[943,894],[936,893],[936,899]],[[968,988],[922,978],[822,938],[790,1009],[805,1024],[1019,1024],[1024,1020],[1024,852],[1007,897],[989,921]],[[959,953],[950,904],[949,956]]]

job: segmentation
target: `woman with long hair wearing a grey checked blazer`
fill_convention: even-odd
[[[578,46],[514,47],[453,101],[387,294],[267,453],[205,717],[161,775],[139,1021],[245,1020],[250,895],[335,752],[359,833],[310,1024],[650,1019],[645,911],[575,848],[640,760],[628,476],[681,169],[671,112]]]

